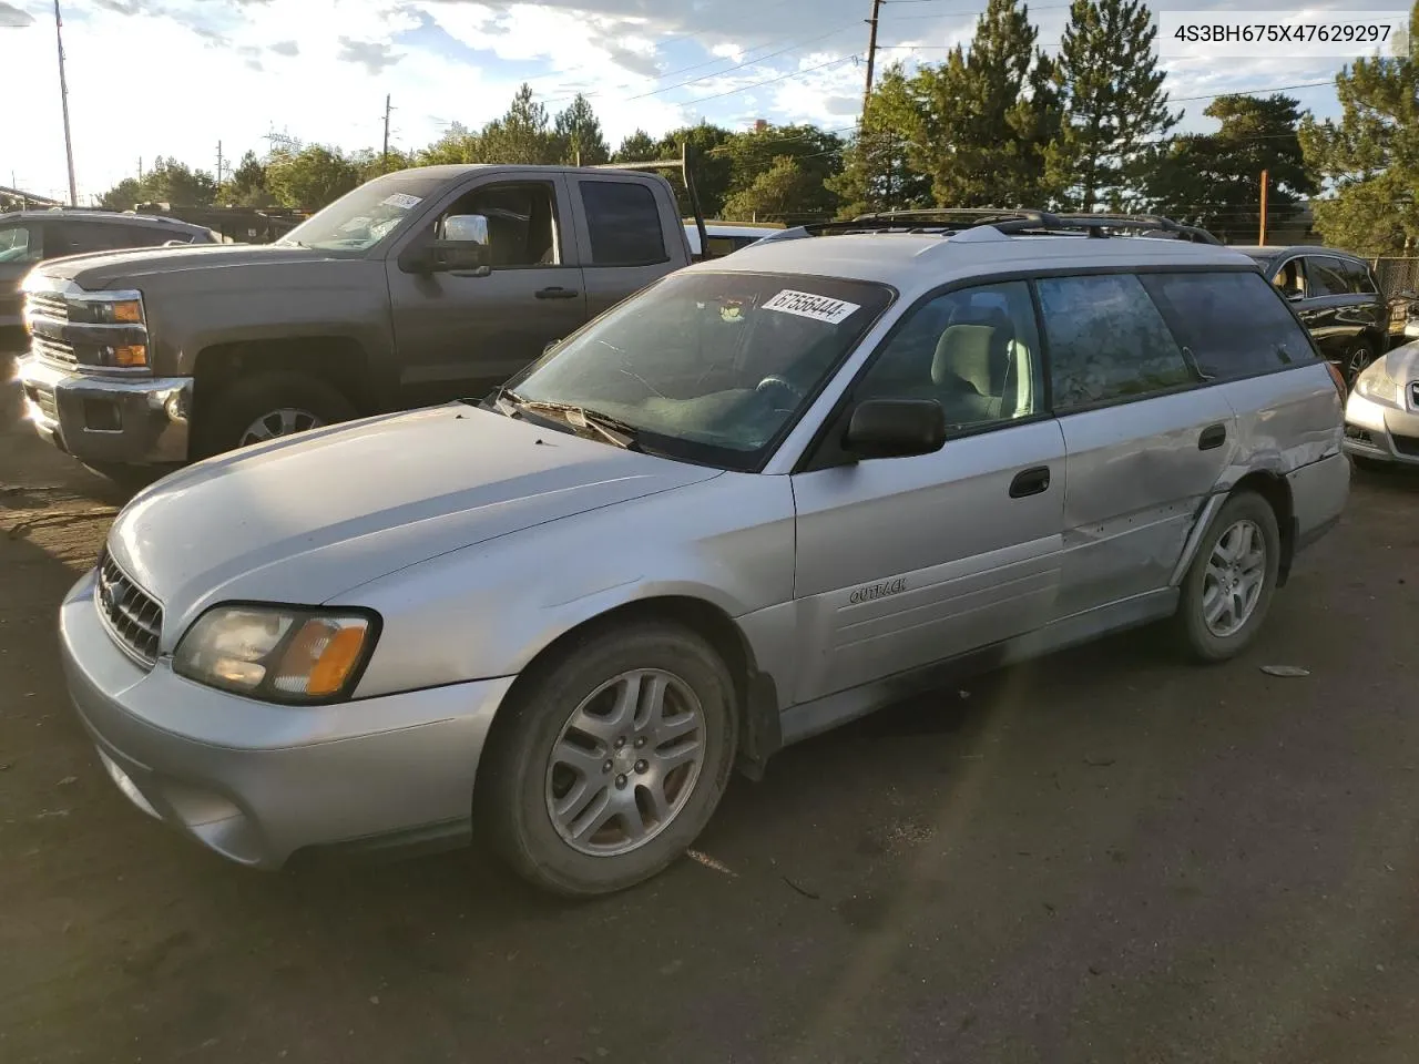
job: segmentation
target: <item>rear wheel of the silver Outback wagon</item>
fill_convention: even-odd
[[[1226,661],[1256,638],[1276,590],[1281,535],[1276,512],[1244,491],[1227,499],[1182,582],[1178,626],[1200,661]]]

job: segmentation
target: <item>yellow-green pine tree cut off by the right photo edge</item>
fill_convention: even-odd
[[[1419,4],[1406,45],[1419,34]],[[1338,122],[1301,122],[1305,162],[1334,186],[1313,200],[1327,243],[1357,251],[1412,254],[1419,244],[1419,64],[1399,55],[1357,60],[1335,75]]]

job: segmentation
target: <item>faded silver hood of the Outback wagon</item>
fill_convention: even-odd
[[[216,602],[318,604],[436,555],[715,475],[450,404],[192,465],[136,495],[108,549],[163,603],[166,637]]]

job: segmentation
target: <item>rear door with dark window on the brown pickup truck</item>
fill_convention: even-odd
[[[639,174],[575,174],[569,180],[576,186],[589,316],[684,261],[673,251],[685,245],[684,228],[674,197],[661,182]]]

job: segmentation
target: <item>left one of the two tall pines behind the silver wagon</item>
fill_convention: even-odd
[[[939,67],[917,74],[921,108],[908,160],[931,176],[941,206],[1013,207],[1039,199],[1054,105],[1049,78],[1037,74],[1036,37],[1026,6],[989,0],[969,52],[958,45]]]

